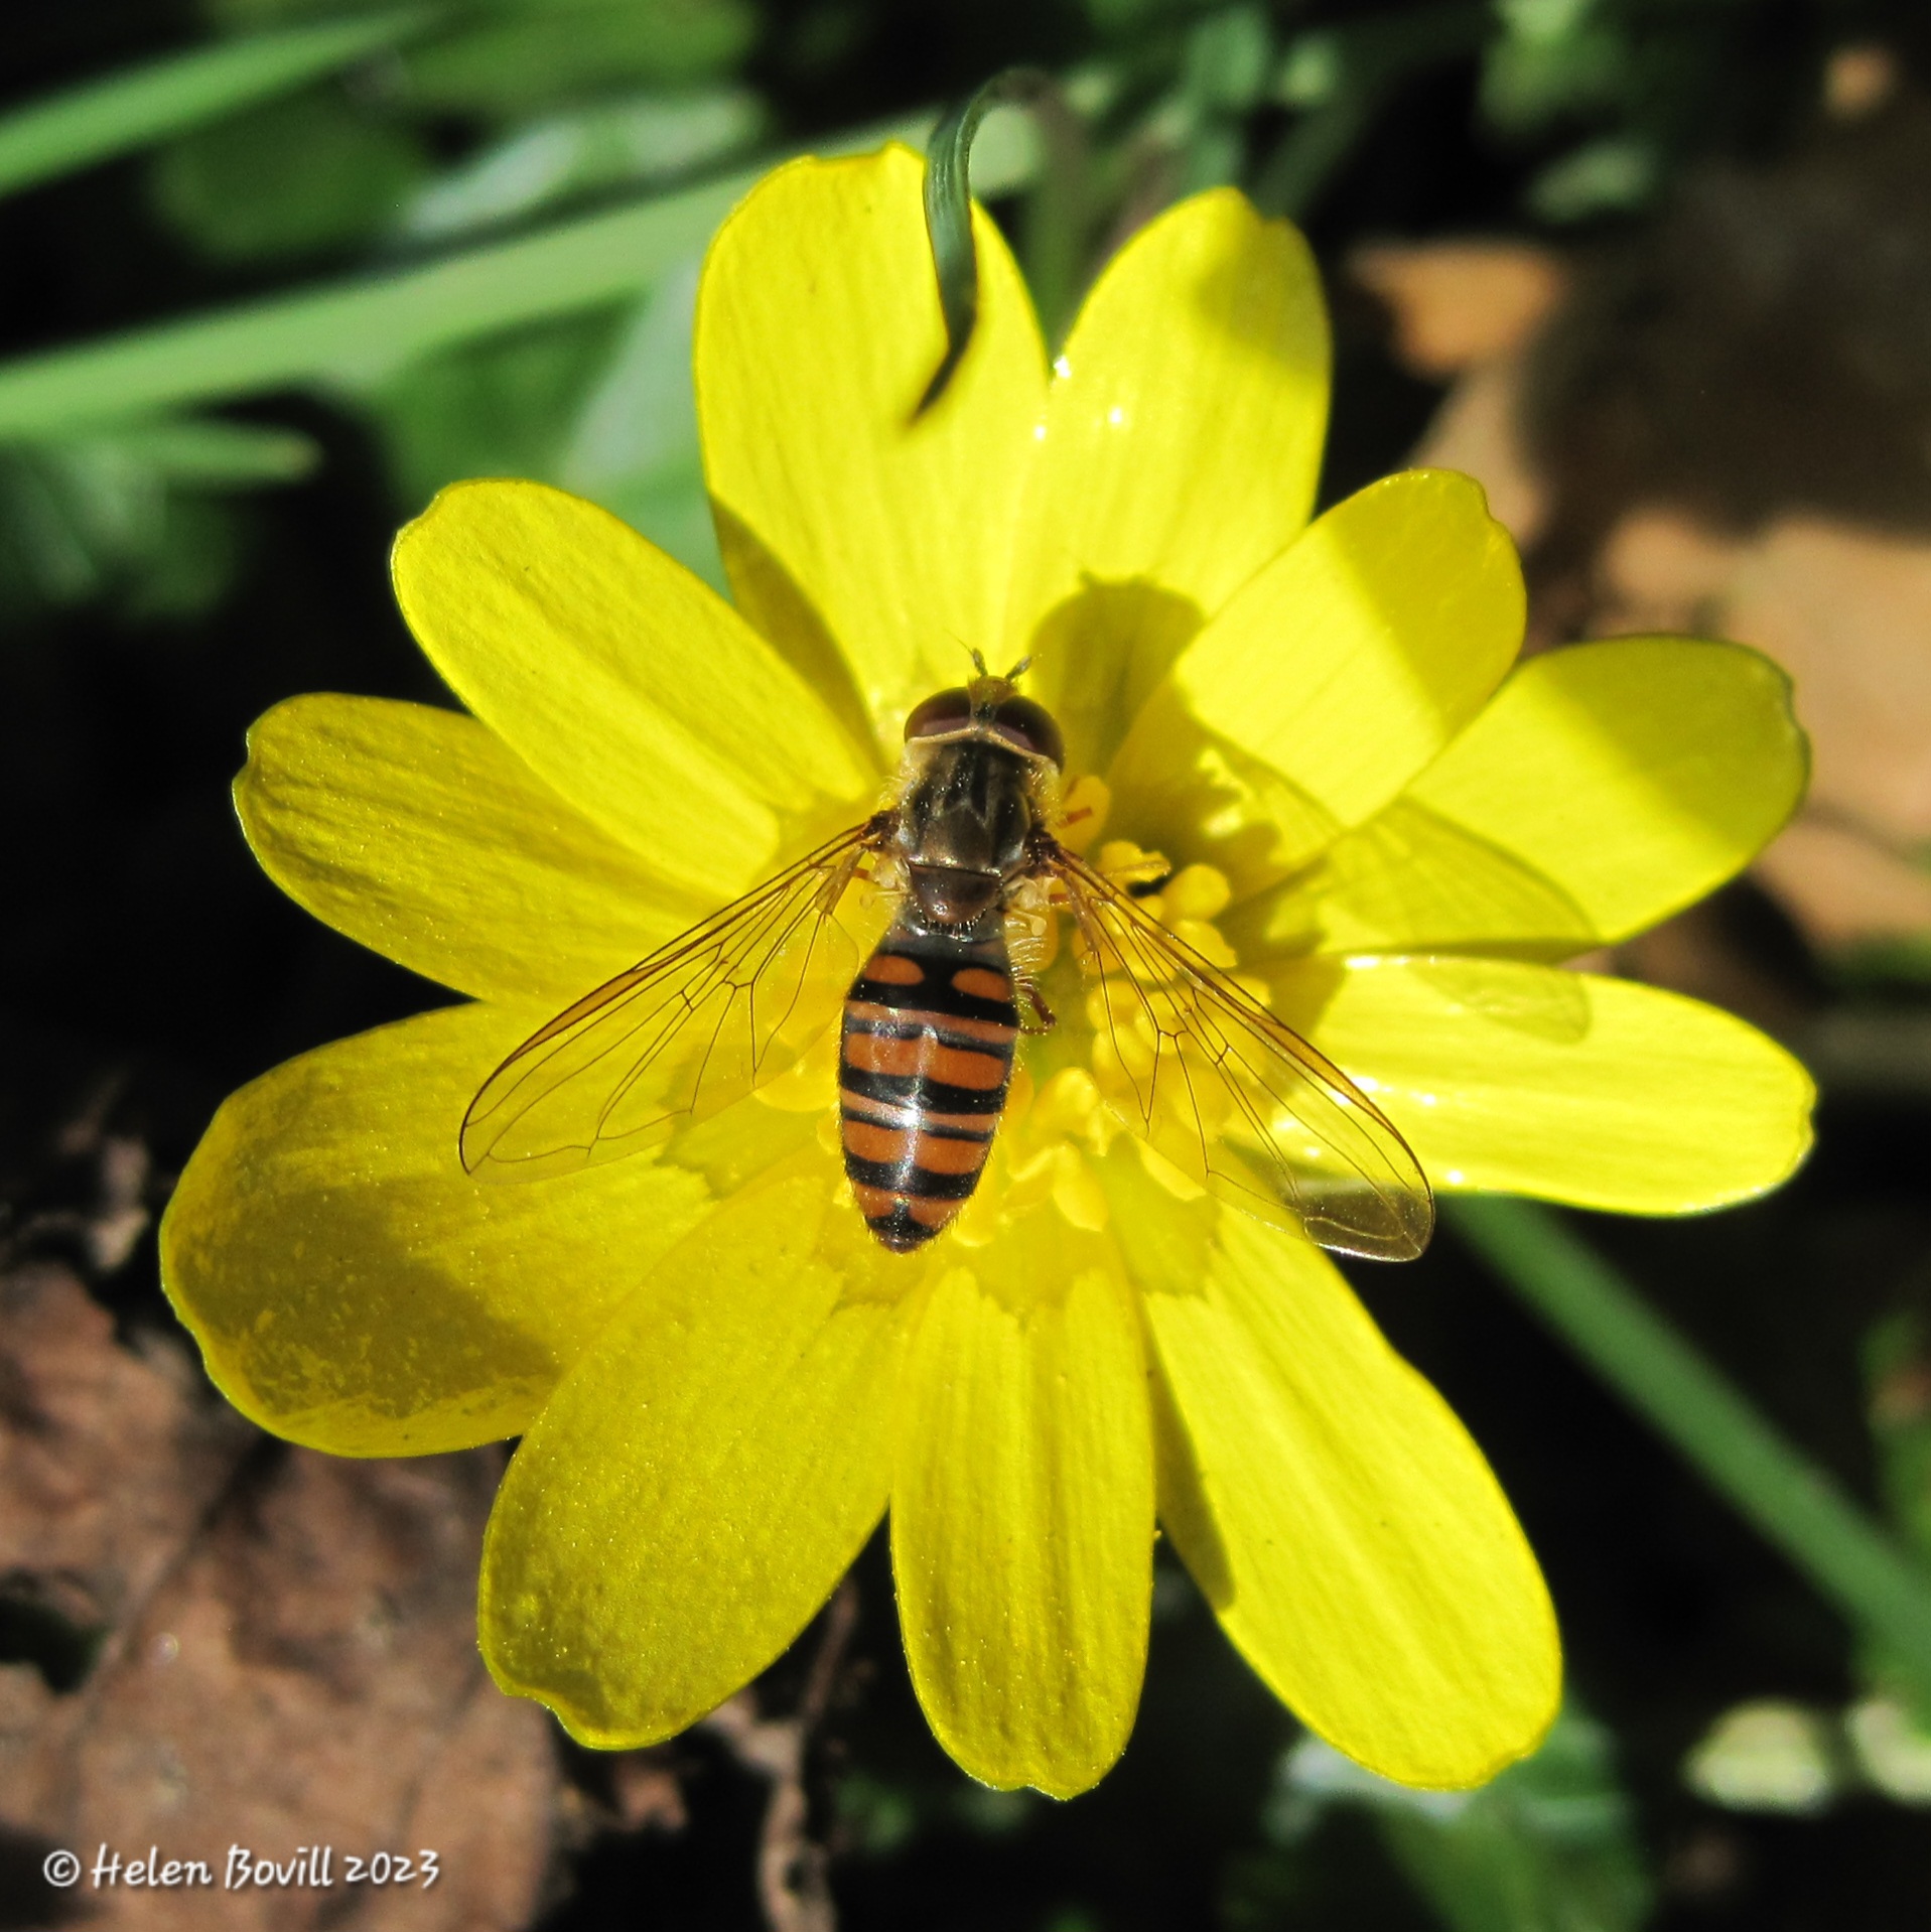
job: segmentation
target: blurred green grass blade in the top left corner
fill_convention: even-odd
[[[15,108],[0,120],[0,195],[290,93],[433,19],[425,8],[404,8],[218,41]]]

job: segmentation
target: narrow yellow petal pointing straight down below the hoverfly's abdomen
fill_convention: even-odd
[[[1052,1208],[941,1256],[891,1484],[912,1685],[982,1783],[1071,1797],[1125,1748],[1146,1667],[1138,1321],[1110,1244]]]

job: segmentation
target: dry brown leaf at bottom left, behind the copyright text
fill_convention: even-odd
[[[0,1573],[104,1633],[72,1692],[0,1669],[0,1824],[15,1859],[83,1862],[39,1922],[526,1924],[559,1768],[547,1716],[503,1696],[476,1650],[499,1455],[284,1449],[172,1343],[116,1341],[62,1269],[15,1273],[0,1296]],[[97,1889],[102,1845],[205,1861],[215,1884]],[[332,1884],[228,1889],[232,1845],[284,1864],[331,1847]],[[425,1849],[429,1888],[344,1882],[350,1857]]]

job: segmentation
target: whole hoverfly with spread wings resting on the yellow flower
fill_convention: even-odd
[[[965,1208],[1005,1109],[1042,914],[1065,914],[1106,1053],[1100,1092],[1191,1182],[1322,1246],[1409,1260],[1428,1182],[1380,1109],[1135,893],[1055,837],[1048,711],[986,674],[905,723],[891,804],[526,1039],[462,1122],[472,1173],[537,1177],[669,1140],[796,1066],[843,1003],[845,1171],[872,1233],[924,1246]],[[858,949],[856,877],[895,918]],[[1019,964],[1015,966],[1015,954]]]

